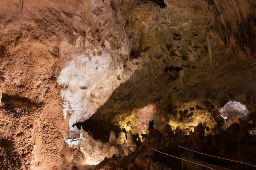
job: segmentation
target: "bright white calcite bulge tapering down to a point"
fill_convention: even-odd
[[[77,40],[76,44],[80,44],[81,41],[82,38]],[[108,46],[107,41],[105,44]],[[64,49],[67,48],[67,44],[62,45]],[[66,63],[58,77],[58,84],[62,87],[64,118],[67,117],[67,112],[71,113],[70,126],[93,115],[120,85],[121,80],[117,79],[116,74],[123,75],[123,68],[120,67],[115,73],[110,71],[111,52],[93,47],[87,50],[89,52],[85,54],[77,54],[74,49],[70,54],[70,61]],[[121,78],[123,81],[128,79],[123,76]]]

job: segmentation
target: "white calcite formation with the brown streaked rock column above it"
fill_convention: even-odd
[[[67,113],[71,114],[70,126],[90,118],[113,90],[141,67],[142,59],[129,59],[130,51],[137,48],[126,31],[131,1],[120,4],[119,0],[111,1],[111,4],[110,1],[89,3],[92,8],[101,6],[102,14],[87,11],[93,25],[86,28],[86,37],[78,36],[75,45],[61,42],[59,46],[64,68],[58,84],[61,86],[64,118]],[[92,30],[98,31],[92,33]]]

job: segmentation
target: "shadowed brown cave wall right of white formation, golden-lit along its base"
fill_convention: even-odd
[[[131,36],[137,37],[139,30],[140,37],[138,50],[131,55],[143,59],[142,67],[84,124],[107,120],[111,122],[107,133],[118,126],[145,133],[143,124],[137,129],[137,119],[140,110],[149,105],[155,105],[159,113],[154,121],[168,122],[173,130],[179,126],[187,133],[200,122],[207,131],[213,130],[223,121],[216,118],[216,110],[229,101],[246,104],[254,114],[256,65],[251,54],[234,46],[241,51],[236,54],[225,46],[218,34],[220,26],[207,17],[211,7],[206,3],[165,3],[167,7],[160,8],[151,2],[133,2]]]

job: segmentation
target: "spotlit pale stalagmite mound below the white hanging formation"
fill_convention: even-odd
[[[63,153],[66,158],[72,156],[69,162],[76,167],[92,167],[91,165],[99,164],[105,157],[127,156],[136,149],[136,144],[132,140],[131,131],[128,133],[127,139],[125,135],[122,135],[122,132],[119,133],[116,139],[115,133],[111,131],[107,143],[93,139],[92,136],[83,130],[79,130],[78,132],[82,134],[83,139],[81,144],[75,144],[72,147],[76,149],[77,153]]]

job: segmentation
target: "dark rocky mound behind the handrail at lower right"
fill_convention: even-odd
[[[204,136],[202,133],[202,129],[204,127],[202,125],[198,125],[198,130],[193,134],[194,136],[192,137],[192,140],[181,144],[181,146],[186,146],[189,149],[201,153],[207,153],[222,158],[256,165],[256,136],[248,133],[248,127],[247,122],[239,121],[239,123],[231,124],[225,130],[218,131],[217,133],[209,136]],[[182,152],[183,156],[193,159],[196,158],[193,153],[187,150],[180,150],[180,152]],[[201,159],[196,159],[201,161]],[[212,161],[215,161],[215,164],[217,164],[219,160],[212,159]],[[222,163],[224,163],[224,161]],[[243,164],[231,164],[230,162],[225,163],[227,164],[226,167],[229,169],[239,170],[244,168]]]

